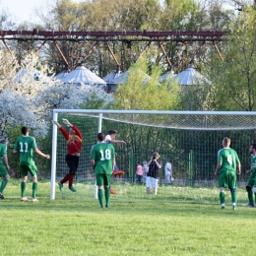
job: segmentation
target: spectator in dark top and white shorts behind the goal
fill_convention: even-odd
[[[149,171],[146,179],[146,190],[147,194],[151,194],[151,188],[154,189],[154,195],[158,193],[158,185],[160,180],[160,155],[159,153],[154,153],[151,160],[148,162]]]

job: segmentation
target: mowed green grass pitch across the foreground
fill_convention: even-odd
[[[233,211],[229,191],[220,209],[218,188],[165,186],[149,197],[144,186],[113,184],[110,208],[100,209],[93,184],[75,185],[56,184],[50,200],[40,180],[39,202],[21,202],[12,179],[0,201],[0,255],[255,255],[256,209],[243,206],[244,189]]]

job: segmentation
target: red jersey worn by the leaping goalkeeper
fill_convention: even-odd
[[[81,153],[83,136],[78,127],[76,125],[72,126],[72,129],[76,132],[76,134],[69,134],[62,126],[59,129],[64,135],[68,144],[67,155]]]

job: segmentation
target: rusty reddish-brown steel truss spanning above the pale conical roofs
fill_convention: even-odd
[[[218,46],[218,43],[224,40],[225,32],[46,32],[46,31],[0,31],[0,39],[3,41],[5,47],[8,51],[14,55],[14,52],[11,50],[9,41],[18,42],[18,59],[20,60],[23,53],[29,50],[34,50],[35,54],[38,54],[45,43],[53,43],[55,48],[59,52],[62,60],[65,63],[67,70],[71,71],[77,66],[85,62],[88,57],[96,49],[98,42],[103,42],[106,44],[108,51],[113,57],[116,65],[118,67],[121,64],[118,62],[117,57],[114,54],[113,49],[110,46],[110,42],[121,42],[126,44],[127,48],[131,49],[135,43],[145,42],[144,49],[140,52],[143,54],[147,48],[150,47],[152,42],[158,44],[162,55],[165,57],[166,62],[169,66],[169,69],[173,69],[173,63],[171,63],[168,54],[165,50],[165,45],[167,43],[181,43],[183,45],[188,45],[192,42],[197,42],[197,48],[194,49],[195,53],[190,60],[190,63],[194,61],[196,56],[199,54],[206,42],[211,42],[220,58],[223,59],[222,53]],[[8,43],[7,43],[8,41]],[[34,47],[36,42],[37,48]],[[69,45],[68,53],[64,54],[64,51],[61,49],[61,42],[71,42],[73,44]],[[81,50],[83,43],[92,42],[90,50],[85,53]]]

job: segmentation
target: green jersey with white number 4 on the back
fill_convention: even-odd
[[[218,153],[218,162],[222,163],[220,173],[226,170],[236,171],[236,163],[240,162],[236,152],[230,148],[224,148]]]

